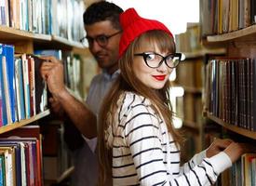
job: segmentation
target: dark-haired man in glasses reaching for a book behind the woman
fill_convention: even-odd
[[[104,95],[118,76],[118,46],[121,37],[119,14],[123,10],[113,3],[101,1],[92,4],[84,13],[88,47],[102,69],[90,85],[86,103],[76,100],[66,89],[63,81],[63,65],[53,57],[46,57],[41,68],[43,77],[52,94],[49,100],[55,111],[66,113],[74,126],[95,149],[97,137],[97,115]],[[74,153],[74,180],[76,186],[96,185],[98,165],[96,154],[85,141]]]

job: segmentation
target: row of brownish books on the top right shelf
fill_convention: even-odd
[[[256,22],[254,0],[206,0],[200,19],[202,35],[229,33]]]

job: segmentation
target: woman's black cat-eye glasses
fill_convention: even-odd
[[[155,54],[155,55],[161,56],[161,57],[163,58],[163,60],[161,60],[161,61],[158,63],[158,66],[152,67],[152,66],[150,66],[150,65],[148,64],[146,58],[147,58],[148,55],[150,55],[150,54]],[[172,55],[173,57],[178,57],[178,58],[179,58],[179,62],[177,62],[177,64],[176,64],[174,67],[168,66],[168,63],[167,63],[167,58],[168,58],[169,56],[171,56],[171,55]],[[179,64],[179,63],[181,62],[181,60],[182,60],[182,53],[172,53],[172,54],[168,54],[166,57],[164,57],[164,56],[162,56],[161,54],[158,54],[158,53],[156,53],[156,52],[142,52],[142,53],[135,53],[134,56],[141,56],[141,57],[143,57],[143,60],[144,60],[144,62],[146,63],[146,65],[147,65],[149,68],[152,68],[152,69],[157,69],[157,68],[159,68],[159,67],[163,64],[163,62],[165,62],[165,64],[168,66],[168,68],[174,69],[174,68],[176,68],[176,67],[178,66],[178,64]]]

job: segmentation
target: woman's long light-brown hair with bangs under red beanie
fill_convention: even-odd
[[[168,88],[169,82],[162,89],[153,89],[145,86],[134,75],[133,72],[133,58],[134,52],[139,51],[144,45],[157,46],[160,51],[174,53],[175,44],[173,38],[163,31],[149,31],[141,34],[136,38],[119,60],[120,75],[116,79],[114,85],[106,95],[100,112],[100,126],[98,133],[98,150],[99,150],[99,165],[100,165],[100,185],[112,184],[112,149],[107,148],[105,140],[105,130],[110,126],[110,121],[113,121],[114,113],[116,113],[116,102],[119,96],[131,91],[151,100],[152,108],[155,113],[162,115],[168,126],[168,132],[179,145],[182,141],[181,135],[172,127],[172,109],[169,102]]]

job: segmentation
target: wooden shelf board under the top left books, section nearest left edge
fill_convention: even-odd
[[[28,31],[21,31],[15,28],[0,26],[1,40],[36,40],[36,41],[50,41],[51,36],[47,34],[31,33]]]

